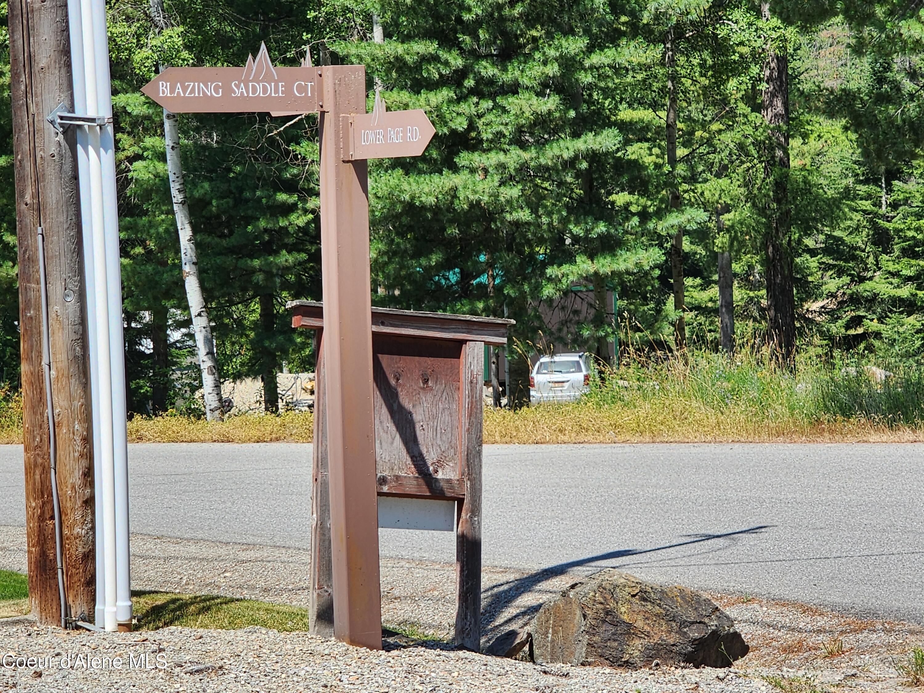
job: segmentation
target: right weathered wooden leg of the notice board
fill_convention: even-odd
[[[456,645],[481,648],[481,425],[484,344],[462,351],[459,408],[459,473],[465,500],[456,503]]]

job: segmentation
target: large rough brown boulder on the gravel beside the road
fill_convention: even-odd
[[[612,568],[543,604],[528,630],[537,663],[731,666],[749,650],[731,617],[699,592]]]

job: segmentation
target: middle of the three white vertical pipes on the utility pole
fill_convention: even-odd
[[[93,36],[93,18],[88,2],[80,3],[81,32],[83,34],[83,57],[87,106],[89,115],[95,113],[99,100],[97,97],[96,60]],[[87,128],[89,131],[89,163],[91,227],[93,250],[93,294],[96,300],[97,329],[109,325],[109,305],[105,259],[105,230],[103,216],[103,167],[100,157],[100,130]],[[112,406],[112,364],[109,340],[97,340],[99,354],[99,392],[100,392],[100,488],[103,495],[103,591],[105,594],[103,608],[103,627],[108,631],[118,629],[116,621],[116,479],[115,452],[113,443],[113,406]]]

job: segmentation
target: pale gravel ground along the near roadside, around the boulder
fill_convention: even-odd
[[[308,602],[308,552],[143,535],[133,536],[132,548],[137,589]],[[0,568],[24,570],[25,563],[24,529],[0,526]],[[574,576],[486,567],[483,580],[488,641],[529,620]],[[413,626],[435,638],[451,634],[452,565],[383,560],[382,581],[386,624]],[[455,651],[436,639],[390,640],[384,652],[372,652],[256,627],[63,633],[23,617],[0,621],[0,656],[51,657],[51,666],[0,665],[0,691],[887,691],[901,687],[895,663],[924,646],[924,628],[914,624],[747,595],[711,597],[752,647],[729,670],[537,666]],[[81,668],[92,657],[101,662]],[[70,668],[62,668],[68,660]]]

